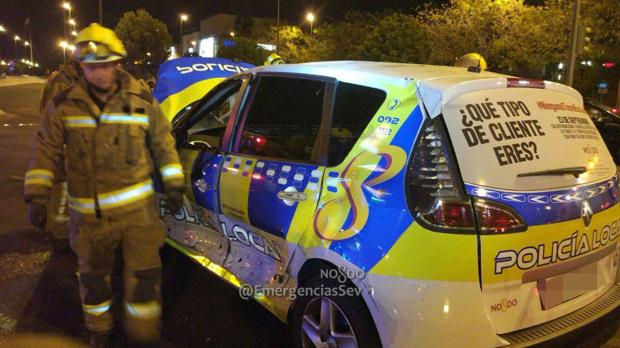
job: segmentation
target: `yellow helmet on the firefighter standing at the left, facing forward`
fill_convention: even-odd
[[[80,30],[75,47],[75,57],[84,63],[112,62],[127,56],[123,42],[114,31],[97,23]]]

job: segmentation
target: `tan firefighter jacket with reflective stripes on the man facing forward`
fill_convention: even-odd
[[[89,96],[83,77],[47,103],[26,173],[27,202],[49,199],[63,144],[69,209],[86,220],[146,204],[154,194],[153,168],[166,189],[183,187],[168,120],[150,91],[123,70],[104,110]]]

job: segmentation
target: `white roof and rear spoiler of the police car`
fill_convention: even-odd
[[[443,106],[459,95],[481,89],[506,88],[507,78],[512,77],[490,71],[471,72],[465,67],[369,61],[270,65],[256,67],[252,72],[325,76],[375,88],[385,85],[406,87],[415,82],[418,95],[431,117],[439,115]],[[582,102],[576,90],[555,82],[544,83],[546,89],[568,94]]]

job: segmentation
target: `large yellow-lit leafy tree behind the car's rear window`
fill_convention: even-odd
[[[568,12],[557,0],[528,6],[523,0],[451,0],[427,6],[418,18],[432,45],[430,63],[451,65],[463,54],[482,54],[491,70],[541,77],[568,45]]]

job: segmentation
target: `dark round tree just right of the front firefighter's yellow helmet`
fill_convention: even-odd
[[[154,74],[169,56],[172,38],[168,27],[144,9],[125,12],[114,31],[125,44],[127,69],[137,76]]]

